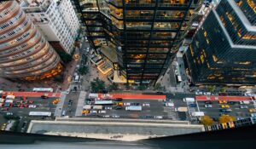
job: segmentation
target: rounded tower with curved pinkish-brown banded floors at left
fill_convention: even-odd
[[[0,3],[0,76],[38,80],[61,73],[61,59],[15,1]]]

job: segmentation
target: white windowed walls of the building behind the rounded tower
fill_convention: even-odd
[[[28,2],[31,2],[30,0],[27,0]],[[41,0],[43,3],[46,0]],[[60,42],[61,46],[64,48],[64,50],[70,54],[73,49],[73,43],[76,35],[75,29],[76,29],[76,21],[75,18],[73,19],[73,16],[75,14],[72,14],[69,16],[71,10],[67,11],[67,13],[64,13],[62,15],[61,10],[59,9],[60,5],[57,5],[57,2],[55,0],[47,0],[50,2],[49,8],[45,11],[41,12],[33,12],[31,9],[31,12],[26,13],[26,15],[35,22],[35,25],[38,26],[42,34],[44,34],[44,37],[49,42]],[[65,1],[63,1],[65,2]],[[69,2],[69,3],[68,3]],[[71,5],[70,1],[67,1],[67,5]],[[22,9],[30,9],[29,4],[21,3],[20,4]],[[62,7],[66,7],[65,3],[62,5]],[[72,5],[71,5],[72,7]],[[72,8],[73,10],[73,8]],[[66,11],[66,10],[65,10]],[[73,10],[74,13],[74,10]],[[76,16],[76,15],[75,15]],[[77,18],[76,18],[77,19]],[[73,22],[69,25],[69,22]]]

